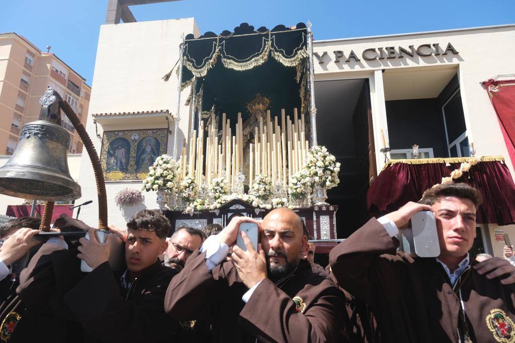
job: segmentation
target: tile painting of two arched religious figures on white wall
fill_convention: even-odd
[[[141,180],[156,157],[166,153],[166,129],[107,131],[100,163],[106,181]]]

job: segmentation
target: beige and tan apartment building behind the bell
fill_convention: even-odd
[[[0,155],[13,153],[24,124],[38,120],[39,99],[54,88],[85,125],[91,87],[52,52],[41,51],[14,32],[0,33]],[[62,114],[62,126],[71,135],[70,153],[81,153],[82,142]]]

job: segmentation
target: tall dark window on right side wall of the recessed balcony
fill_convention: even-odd
[[[442,106],[445,138],[450,157],[470,156],[469,138],[459,91],[458,88]]]

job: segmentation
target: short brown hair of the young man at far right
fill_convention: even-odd
[[[476,206],[483,204],[483,196],[481,192],[474,187],[464,183],[445,183],[433,188],[427,189],[422,195],[420,204],[434,205],[444,196],[456,196],[462,199],[468,199]]]

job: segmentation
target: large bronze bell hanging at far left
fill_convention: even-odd
[[[80,186],[68,170],[70,134],[60,125],[59,100],[48,87],[40,100],[40,120],[23,125],[16,150],[0,168],[0,193],[44,201],[80,197]]]

